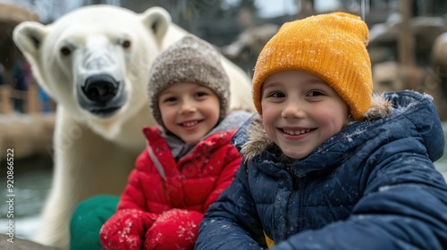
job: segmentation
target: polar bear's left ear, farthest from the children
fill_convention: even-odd
[[[46,36],[46,26],[36,21],[23,21],[13,31],[13,41],[21,53],[36,57],[42,40]]]

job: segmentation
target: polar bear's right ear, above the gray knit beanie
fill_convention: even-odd
[[[172,22],[169,12],[162,7],[152,7],[148,8],[146,12],[143,12],[141,17],[143,24],[148,27],[148,30],[154,33],[156,41],[161,44],[161,41]]]

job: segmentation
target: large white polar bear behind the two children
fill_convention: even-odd
[[[145,146],[141,129],[155,124],[149,68],[186,33],[160,7],[136,13],[112,5],[82,7],[48,25],[25,21],[13,30],[38,84],[57,103],[54,180],[35,241],[67,248],[75,206],[97,194],[121,194]],[[249,76],[224,57],[223,67],[231,107],[254,111]]]

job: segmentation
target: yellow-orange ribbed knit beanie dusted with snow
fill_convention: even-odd
[[[257,58],[253,76],[257,112],[262,115],[261,88],[270,75],[307,71],[333,87],[350,106],[354,120],[362,120],[373,93],[368,41],[367,24],[346,12],[284,23]]]

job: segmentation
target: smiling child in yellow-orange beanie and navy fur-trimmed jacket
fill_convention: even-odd
[[[373,94],[368,29],[333,12],[291,21],[257,59],[244,159],[196,249],[444,249],[443,128],[431,96]]]

